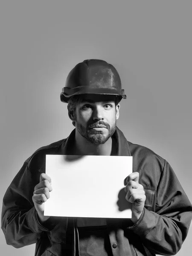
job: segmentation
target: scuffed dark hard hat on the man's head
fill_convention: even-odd
[[[60,97],[62,102],[68,102],[71,96],[87,93],[117,95],[120,100],[126,99],[116,69],[106,61],[96,59],[80,62],[70,71]]]

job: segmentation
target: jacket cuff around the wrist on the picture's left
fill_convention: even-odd
[[[40,223],[35,207],[32,207],[28,212],[26,212],[26,221],[30,230],[32,230],[33,233],[51,231],[56,224],[52,223],[49,219],[45,221],[43,224]]]

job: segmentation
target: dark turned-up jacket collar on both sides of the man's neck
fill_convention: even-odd
[[[69,137],[67,137],[66,143],[63,148],[63,154],[73,154],[73,145],[74,145],[74,140],[75,140],[75,134],[76,134],[76,129],[74,129]],[[126,140],[124,134],[122,133],[121,130],[119,130],[118,127],[116,127],[116,131],[114,132],[112,136],[117,145],[117,155],[118,156],[131,156],[128,141]]]

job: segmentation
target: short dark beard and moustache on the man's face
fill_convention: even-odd
[[[106,129],[108,130],[108,134],[105,135],[103,131],[93,131],[92,129],[90,129],[96,125],[105,125]],[[111,127],[109,124],[100,121],[92,123],[84,128],[79,122],[76,121],[76,127],[82,137],[84,137],[92,144],[99,145],[104,144],[114,134],[114,132],[116,131],[116,122]]]

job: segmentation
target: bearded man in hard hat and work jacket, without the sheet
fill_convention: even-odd
[[[189,230],[192,205],[169,163],[128,142],[116,127],[122,98],[126,96],[119,74],[111,64],[86,60],[71,70],[61,101],[68,103],[75,129],[67,139],[35,151],[7,189],[2,210],[7,244],[18,248],[36,243],[37,256],[177,253]],[[46,154],[133,156],[124,194],[132,203],[132,218],[44,216],[52,191],[51,177],[45,174]],[[107,189],[112,189],[110,184]]]

